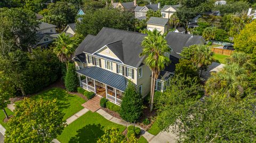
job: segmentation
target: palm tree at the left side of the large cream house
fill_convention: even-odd
[[[53,52],[57,55],[60,62],[66,63],[67,66],[67,62],[71,60],[71,56],[75,52],[73,40],[68,35],[65,35],[65,33],[61,33],[53,44],[55,45]]]

